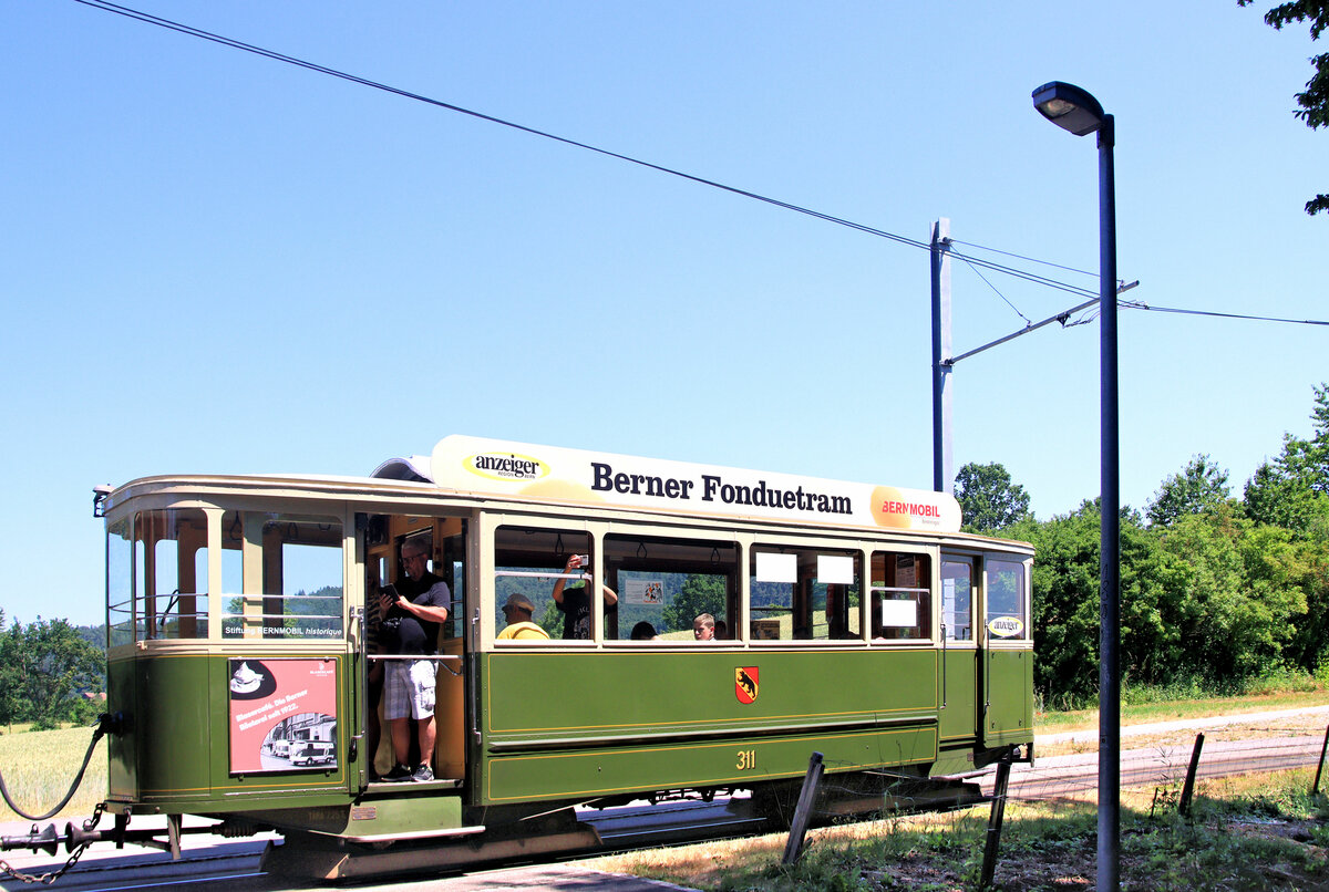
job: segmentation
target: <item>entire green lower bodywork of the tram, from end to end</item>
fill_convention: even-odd
[[[389,836],[461,827],[465,806],[799,778],[813,751],[832,773],[953,773],[971,767],[975,747],[1031,739],[1029,650],[504,650],[468,664],[481,734],[464,784],[369,791],[359,787],[360,766],[346,761],[355,698],[344,657],[338,767],[231,775],[231,656],[136,653],[110,662],[110,709],[129,727],[109,738],[113,806]],[[982,714],[985,693],[995,709]]]

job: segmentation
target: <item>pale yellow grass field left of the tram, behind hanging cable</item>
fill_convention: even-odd
[[[0,773],[5,788],[20,808],[43,815],[58,803],[78,774],[90,727],[65,727],[54,731],[28,731],[23,725],[7,726],[0,734]],[[82,784],[60,814],[51,820],[89,818],[93,807],[106,795],[106,742],[98,741]],[[0,820],[24,820],[0,802]]]

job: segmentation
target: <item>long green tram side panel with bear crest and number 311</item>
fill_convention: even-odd
[[[930,649],[489,653],[480,804],[751,784],[815,750],[832,771],[932,762],[937,668]]]

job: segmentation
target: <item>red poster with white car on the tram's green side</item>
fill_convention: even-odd
[[[336,660],[233,657],[231,774],[336,769]]]

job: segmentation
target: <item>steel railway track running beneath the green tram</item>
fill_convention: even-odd
[[[1200,762],[1201,778],[1280,771],[1314,765],[1320,759],[1322,735],[1285,737],[1252,741],[1219,741],[1205,746]],[[1189,745],[1158,746],[1130,750],[1122,758],[1122,784],[1146,786],[1180,782],[1191,758]],[[978,779],[983,792],[991,791],[991,775]],[[1017,765],[1011,771],[1009,795],[1033,800],[1088,792],[1098,784],[1098,757],[1094,753],[1039,759],[1033,767]],[[674,802],[658,806],[629,806],[603,811],[585,810],[578,818],[601,838],[595,854],[629,851],[744,836],[769,824],[747,814],[747,800]],[[263,868],[263,852],[270,840],[233,842],[189,848],[173,861],[165,852],[117,852],[108,843],[98,843],[56,888],[68,892],[120,892],[149,888],[182,888],[190,892],[271,892],[300,885]],[[275,843],[280,844],[280,843]],[[586,852],[579,852],[583,856]],[[58,869],[60,857],[45,854],[8,852],[4,860],[29,875]],[[532,855],[526,861],[549,860]],[[466,868],[470,871],[472,868]],[[460,871],[453,872],[459,876]],[[419,880],[420,877],[415,877]],[[443,877],[431,877],[436,885]],[[412,877],[405,877],[407,883]],[[448,881],[451,883],[451,881]],[[16,892],[33,885],[15,879],[0,880],[0,889]],[[447,884],[443,887],[447,888]]]

